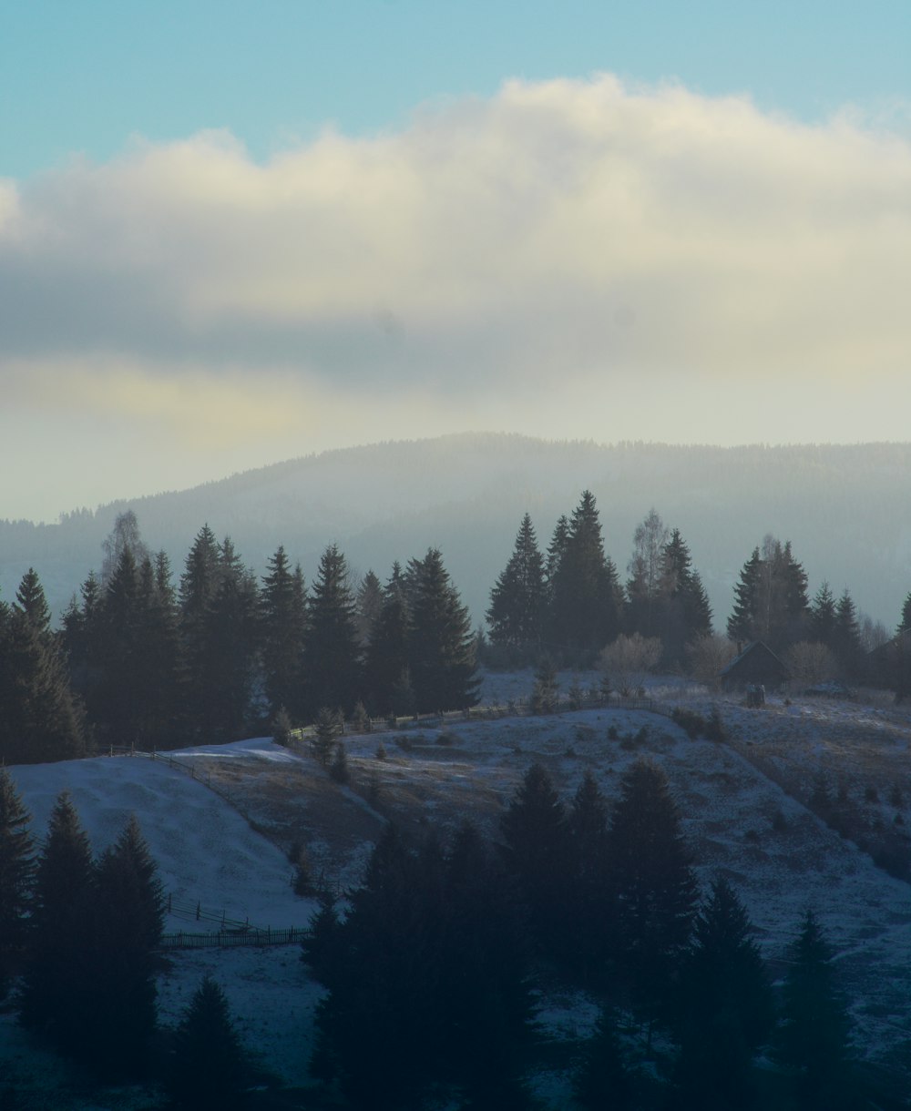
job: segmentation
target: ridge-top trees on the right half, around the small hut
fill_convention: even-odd
[[[712,611],[689,546],[654,509],[635,529],[627,572],[621,582],[589,491],[570,517],[560,517],[547,551],[525,513],[490,592],[487,621],[494,651],[488,658],[528,663],[547,654],[565,665],[591,664],[605,645],[641,639],[654,645],[651,653],[639,653],[649,668],[691,665],[689,658],[712,634]],[[763,641],[799,680],[880,682],[900,694],[911,691],[905,659],[911,652],[898,658],[909,630],[911,592],[890,642],[882,627],[859,613],[847,587],[835,598],[823,581],[811,599],[790,541],[772,536],[744,562],[725,623],[732,644]],[[885,651],[871,655],[874,648]],[[614,652],[614,660],[622,654]]]

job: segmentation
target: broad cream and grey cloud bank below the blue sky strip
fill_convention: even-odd
[[[904,438],[909,289],[907,138],[610,76],[0,182],[11,404],[202,440]]]

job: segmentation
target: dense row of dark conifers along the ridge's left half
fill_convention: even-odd
[[[93,747],[234,740],[281,714],[356,705],[404,714],[477,703],[475,638],[437,549],[354,582],[332,544],[307,587],[282,547],[261,582],[208,526],[179,582],[121,514],[62,618],[29,570],[0,603],[0,755],[78,757]]]

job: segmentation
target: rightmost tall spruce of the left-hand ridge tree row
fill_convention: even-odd
[[[409,562],[409,670],[419,712],[463,710],[478,702],[475,642],[443,558],[436,548]]]

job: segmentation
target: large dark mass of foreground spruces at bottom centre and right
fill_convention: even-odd
[[[773,991],[735,890],[700,897],[649,760],[612,808],[591,772],[567,804],[532,764],[493,841],[390,825],[342,903],[322,895],[303,959],[327,988],[311,1070],[347,1107],[533,1108],[535,999],[554,980],[600,1000],[571,1062],[581,1108],[867,1105],[819,920],[797,925]]]

